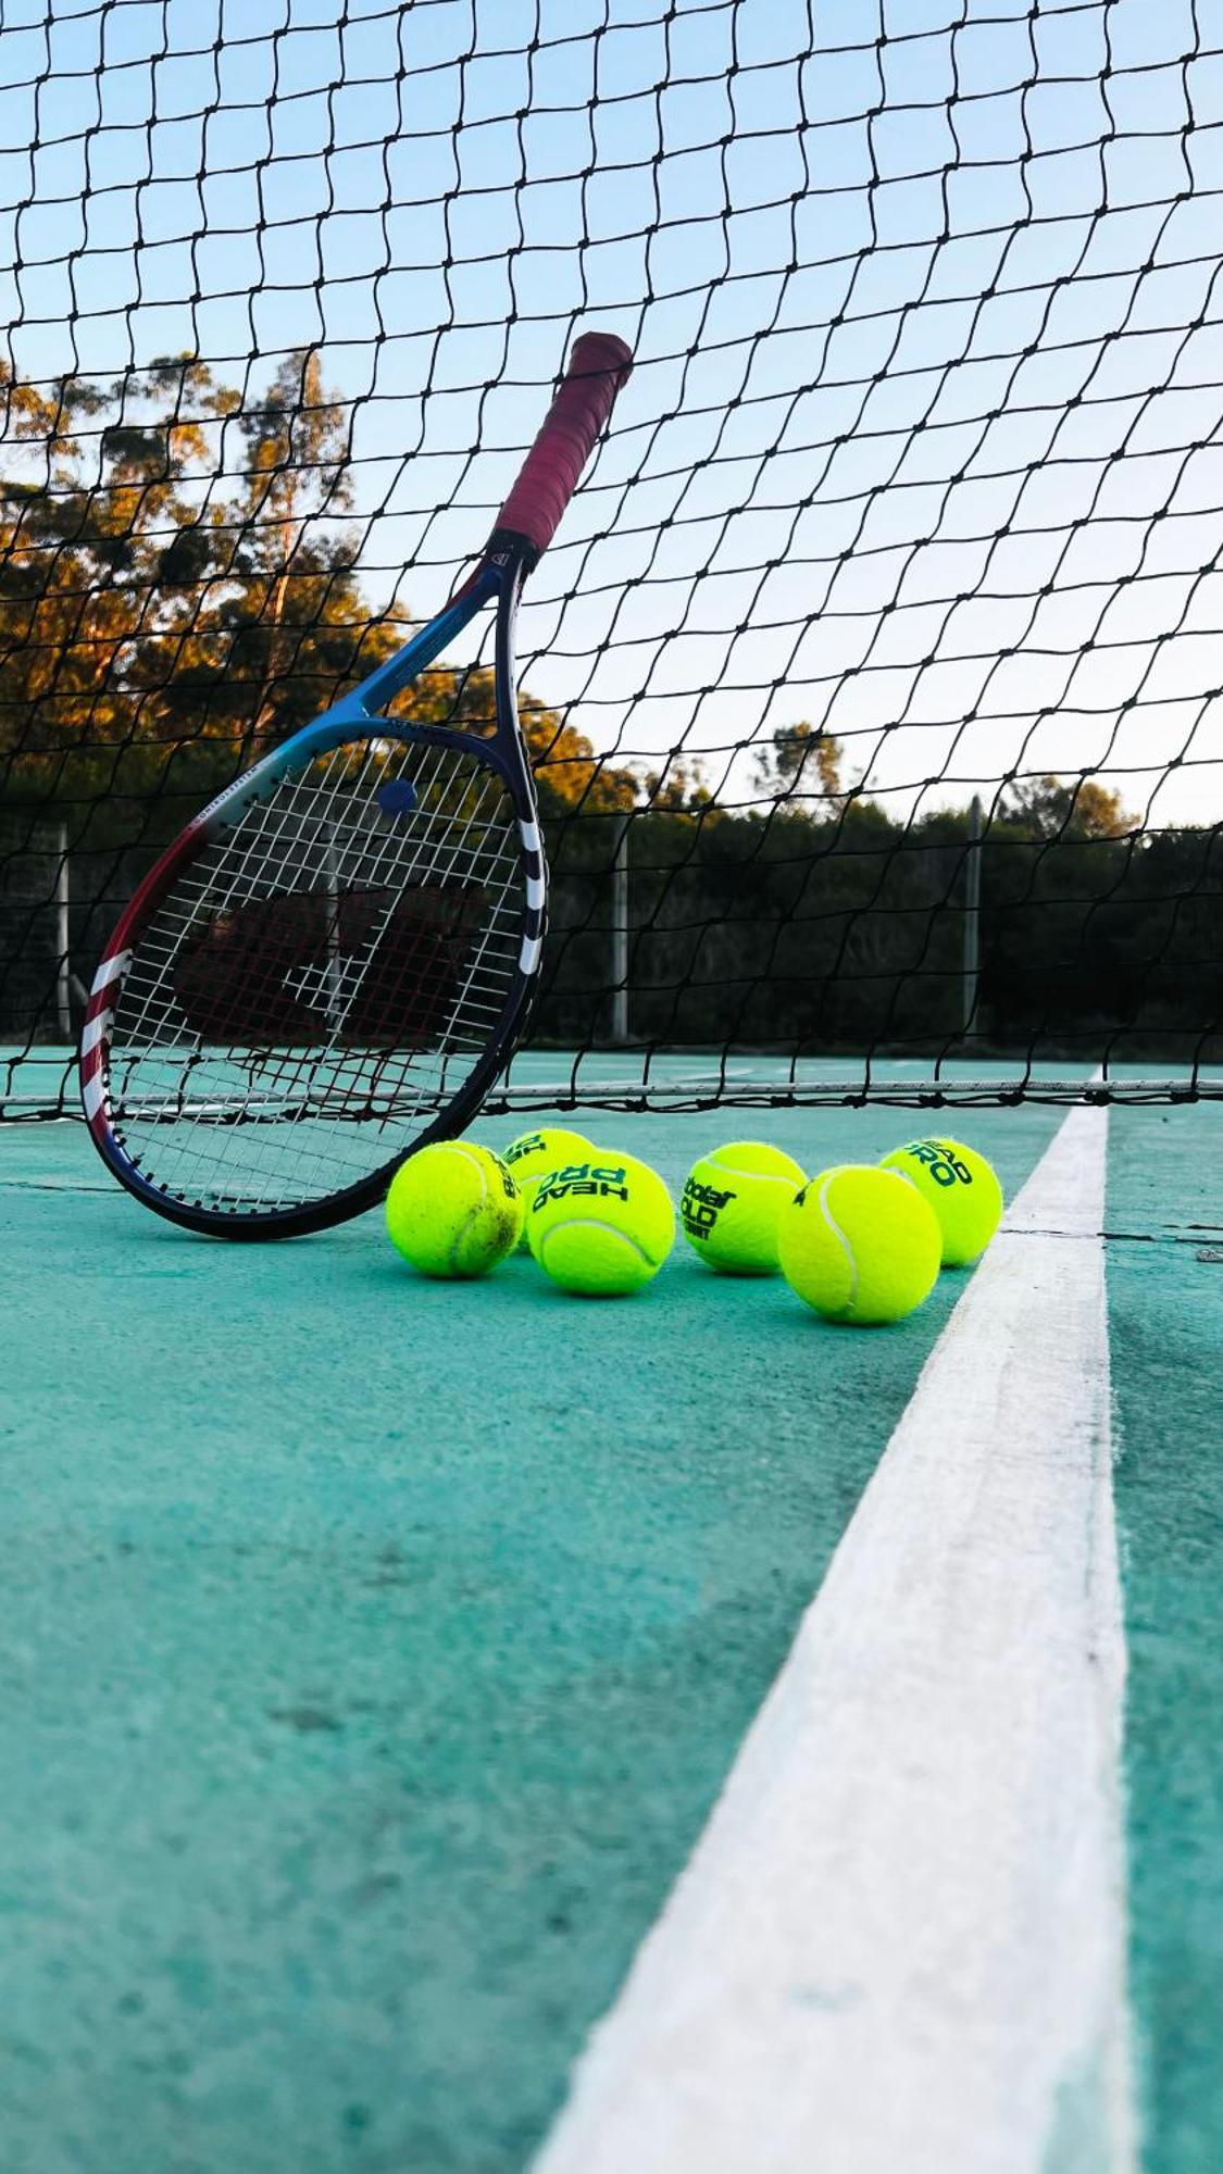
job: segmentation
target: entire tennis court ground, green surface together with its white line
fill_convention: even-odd
[[[1219,2165],[1221,1122],[960,1111],[1008,1224],[857,1335],[7,1128],[4,2163]]]

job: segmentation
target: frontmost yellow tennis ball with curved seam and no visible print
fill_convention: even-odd
[[[820,1170],[781,1209],[777,1254],[790,1289],[831,1322],[899,1322],[938,1278],[938,1217],[894,1170]]]

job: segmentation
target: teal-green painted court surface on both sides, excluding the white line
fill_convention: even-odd
[[[940,1128],[1010,1196],[1062,1117]],[[727,1137],[820,1167],[914,1130],[561,1122],[672,1185]],[[1112,1115],[1156,2174],[1223,2163],[1221,1150],[1216,1107]],[[429,1285],[381,1215],[192,1239],[76,1124],[0,1133],[0,1224],[4,2174],[524,2167],[966,1278],[857,1335],[683,1244],[618,1304],[529,1259]]]

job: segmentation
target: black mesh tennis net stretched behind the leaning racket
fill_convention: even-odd
[[[1208,0],[24,0],[0,1109],[189,813],[638,354],[520,622],[509,1098],[1182,1096],[1223,1057]],[[479,724],[487,637],[405,707]]]

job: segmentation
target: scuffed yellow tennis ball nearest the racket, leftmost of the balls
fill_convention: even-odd
[[[444,1139],[396,1170],[387,1230],[422,1276],[487,1276],[518,1244],[522,1194],[492,1148]]]

